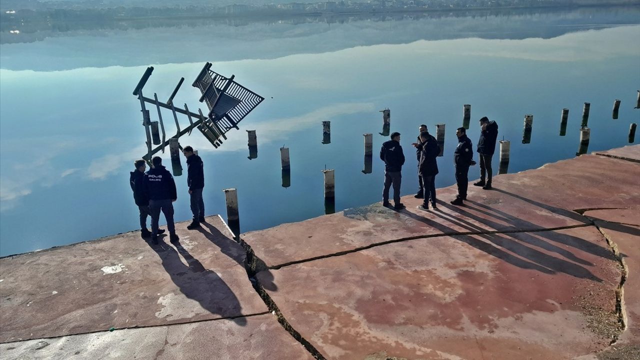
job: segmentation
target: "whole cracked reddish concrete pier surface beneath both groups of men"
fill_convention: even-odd
[[[0,358],[640,359],[640,145],[436,193],[0,259]]]

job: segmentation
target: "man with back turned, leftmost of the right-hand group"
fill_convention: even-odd
[[[389,206],[389,188],[394,186],[394,209],[404,209],[400,202],[400,184],[404,153],[400,146],[400,133],[392,133],[391,140],[382,144],[380,159],[385,161],[385,188],[382,190],[382,205]]]

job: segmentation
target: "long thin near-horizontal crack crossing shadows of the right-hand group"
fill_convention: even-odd
[[[335,256],[342,256],[342,255],[346,255],[346,254],[351,254],[353,252],[372,249],[374,247],[388,245],[388,244],[391,244],[391,243],[400,243],[400,242],[408,241],[408,240],[438,238],[440,236],[469,236],[469,235],[484,235],[484,234],[540,233],[542,231],[556,231],[556,230],[564,230],[564,229],[575,229],[577,227],[588,227],[588,226],[592,226],[592,225],[594,225],[593,222],[589,221],[588,224],[568,225],[568,226],[560,226],[560,227],[549,227],[549,228],[544,228],[544,229],[528,229],[528,230],[527,229],[525,229],[525,230],[513,229],[513,230],[464,231],[464,232],[463,231],[458,231],[458,232],[451,232],[451,233],[439,233],[439,234],[429,234],[429,235],[407,236],[406,238],[399,238],[399,239],[394,239],[394,240],[380,241],[380,242],[377,242],[377,243],[371,243],[371,244],[363,246],[363,247],[356,247],[354,249],[334,252],[332,254],[314,256],[312,258],[307,258],[307,259],[289,261],[288,263],[282,263],[282,264],[279,264],[279,265],[266,266],[266,264],[264,264],[264,262],[262,262],[262,263],[256,263],[254,266],[255,266],[256,272],[260,272],[260,271],[264,271],[264,270],[280,270],[281,268],[284,268],[285,266],[291,266],[291,265],[296,265],[296,264],[300,264],[300,263],[307,263],[309,261],[315,261],[315,260],[319,260],[319,259],[333,258]]]

